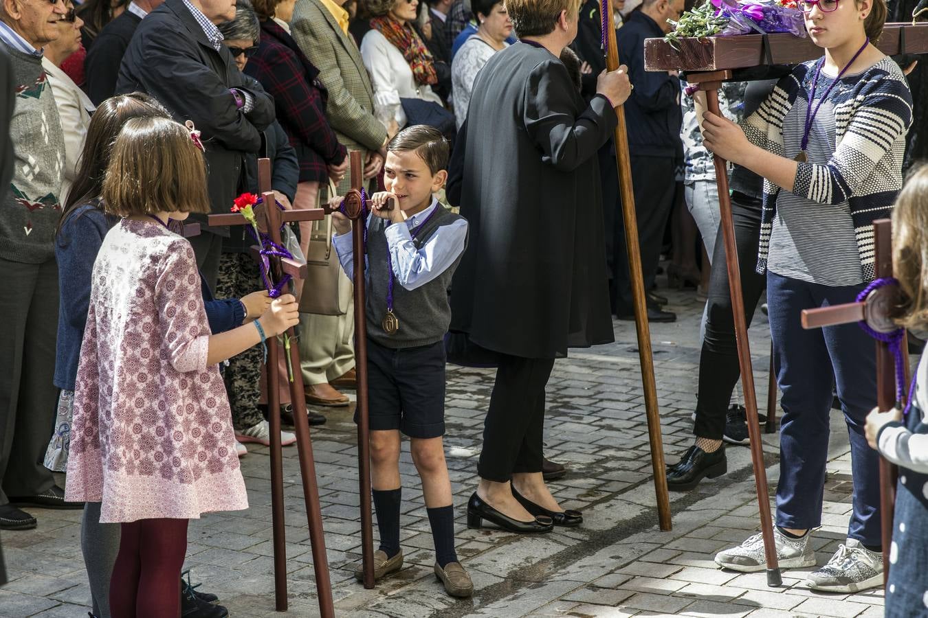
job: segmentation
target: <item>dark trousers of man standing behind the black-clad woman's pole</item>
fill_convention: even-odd
[[[614,161],[612,168],[615,168]],[[641,272],[644,289],[650,290],[657,276],[661,259],[664,229],[674,208],[677,193],[677,161],[673,157],[631,158],[632,183],[635,185],[635,213],[638,218],[638,246],[641,251]],[[606,206],[606,205],[604,205]],[[608,208],[608,207],[607,207]],[[622,219],[621,200],[616,201],[617,232],[614,240],[615,264],[614,305],[617,314],[631,314],[631,279],[628,274],[628,256],[625,248],[625,222]]]

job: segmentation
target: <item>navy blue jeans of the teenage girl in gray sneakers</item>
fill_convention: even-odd
[[[780,485],[777,525],[821,525],[828,460],[831,385],[837,385],[851,442],[854,511],[847,536],[880,546],[879,455],[864,422],[876,406],[876,346],[856,323],[806,331],[802,309],[854,302],[863,285],[809,284],[767,272],[767,309],[780,385]]]

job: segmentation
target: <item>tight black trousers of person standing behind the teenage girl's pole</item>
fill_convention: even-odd
[[[735,245],[741,270],[741,298],[744,317],[751,325],[757,301],[767,286],[767,277],[754,270],[760,243],[761,200],[735,192],[731,195],[731,216],[735,223]],[[725,241],[719,226],[712,257],[709,297],[706,301],[705,337],[699,362],[696,424],[693,434],[721,440],[731,391],[741,377],[735,322],[728,292],[728,266]],[[772,379],[772,376],[771,376]]]

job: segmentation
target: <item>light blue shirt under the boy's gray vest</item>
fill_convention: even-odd
[[[396,283],[410,291],[428,284],[445,272],[464,251],[468,228],[467,221],[464,219],[442,225],[421,248],[416,248],[409,231],[421,225],[435,208],[438,208],[438,200],[432,197],[432,205],[429,208],[413,215],[403,224],[387,225],[384,232],[387,237],[387,247],[390,250],[390,259],[393,261],[393,276],[396,277]],[[367,218],[367,227],[370,227],[374,218],[374,215]],[[332,245],[339,254],[342,268],[351,279],[354,277],[352,233],[333,235]],[[367,256],[365,256],[365,264],[367,264]]]

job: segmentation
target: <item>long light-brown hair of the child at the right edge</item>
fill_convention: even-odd
[[[899,305],[906,328],[928,325],[928,165],[909,174],[893,208],[893,273],[904,298]]]

